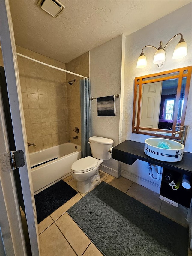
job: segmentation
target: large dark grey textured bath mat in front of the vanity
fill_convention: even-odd
[[[106,256],[187,256],[187,228],[105,182],[67,212]]]

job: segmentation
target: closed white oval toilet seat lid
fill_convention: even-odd
[[[73,173],[85,173],[94,169],[98,164],[98,159],[87,156],[74,162],[71,166]]]

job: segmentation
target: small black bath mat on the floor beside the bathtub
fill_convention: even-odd
[[[63,180],[36,194],[38,224],[76,194],[77,192]]]

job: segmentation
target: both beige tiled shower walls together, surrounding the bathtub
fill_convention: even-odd
[[[33,59],[89,77],[89,53],[70,61],[59,62],[16,46],[16,51]],[[17,56],[27,140],[36,148],[29,152],[66,143],[81,144],[80,77],[49,68]],[[4,66],[0,50],[0,65]],[[76,79],[73,85],[68,81]],[[66,83],[67,79],[67,83]],[[73,130],[79,127],[79,134]],[[73,140],[74,136],[78,139]]]

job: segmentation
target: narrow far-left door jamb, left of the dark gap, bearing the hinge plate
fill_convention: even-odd
[[[0,123],[0,155],[2,155],[9,152],[9,141],[1,92]],[[0,164],[0,229],[4,255],[27,255],[13,170],[5,172],[4,167]]]

